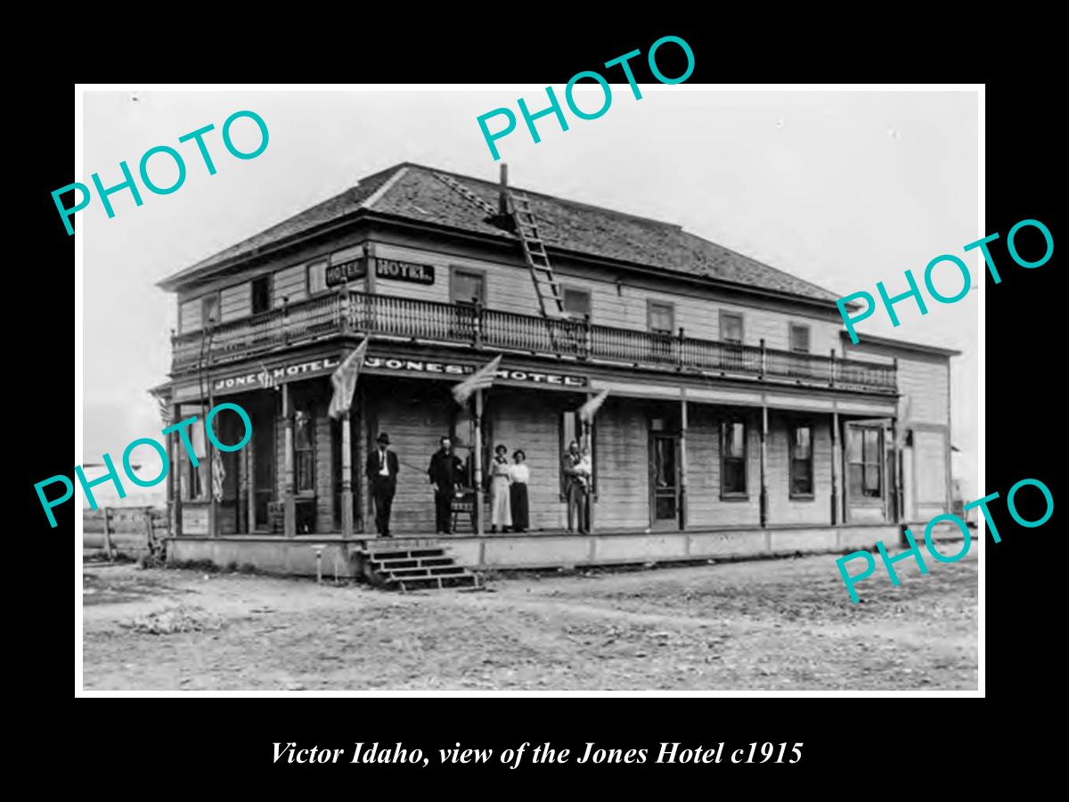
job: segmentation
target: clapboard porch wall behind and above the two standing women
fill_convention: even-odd
[[[517,448],[527,456],[531,529],[558,529],[567,523],[567,508],[560,499],[560,417],[564,408],[557,394],[510,394],[495,388],[487,397],[492,447],[498,443],[508,446],[510,462]]]

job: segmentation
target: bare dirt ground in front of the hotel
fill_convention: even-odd
[[[831,555],[408,595],[87,564],[84,690],[976,690],[975,550],[896,567],[851,604]]]

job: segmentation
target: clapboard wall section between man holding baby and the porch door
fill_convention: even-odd
[[[605,402],[598,413],[597,464],[599,529],[650,525],[649,420],[625,400]]]

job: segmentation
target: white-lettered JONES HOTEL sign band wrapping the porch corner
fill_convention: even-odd
[[[270,387],[281,382],[306,379],[315,374],[329,373],[341,364],[341,358],[328,356],[323,359],[311,359],[303,363],[282,365],[266,370],[252,373],[244,373],[238,376],[228,379],[217,379],[213,384],[213,391],[239,392],[248,389],[260,389]],[[475,373],[481,366],[463,363],[428,361],[425,359],[399,359],[388,356],[369,356],[363,360],[363,370],[372,373],[417,373],[424,376],[439,374],[444,379],[448,376],[461,376]],[[522,384],[548,384],[558,387],[580,388],[587,386],[586,376],[569,375],[564,373],[544,373],[533,370],[512,370],[501,368],[497,371],[497,377],[507,382],[517,382]]]

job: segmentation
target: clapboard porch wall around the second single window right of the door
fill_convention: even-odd
[[[769,525],[832,521],[832,427],[826,416],[769,413]],[[791,498],[790,445],[794,422],[812,426],[814,497]]]

